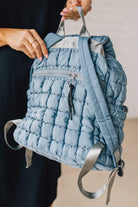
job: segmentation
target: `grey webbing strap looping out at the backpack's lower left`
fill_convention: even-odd
[[[8,121],[5,126],[4,126],[4,139],[6,144],[8,145],[8,147],[12,150],[19,150],[21,149],[23,146],[22,145],[17,145],[17,147],[13,147],[9,144],[8,139],[7,139],[7,133],[10,130],[10,128],[13,125],[18,126],[18,124],[20,124],[20,122],[22,121],[22,119],[15,119],[15,120],[10,120]],[[25,158],[26,158],[26,168],[29,168],[32,164],[32,156],[33,156],[33,152],[29,149],[26,149],[25,151]]]

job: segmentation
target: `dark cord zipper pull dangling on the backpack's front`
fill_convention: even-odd
[[[69,106],[69,113],[70,113],[70,120],[72,120],[72,112],[75,114],[74,104],[73,104],[73,89],[74,85],[72,83],[69,84],[70,90],[68,94],[68,106]]]

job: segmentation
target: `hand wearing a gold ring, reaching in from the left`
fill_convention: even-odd
[[[43,56],[48,58],[48,50],[39,34],[34,29],[2,28],[4,45],[24,52],[28,57],[36,57],[42,61]]]

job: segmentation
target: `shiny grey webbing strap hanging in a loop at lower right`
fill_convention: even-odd
[[[110,201],[111,189],[112,189],[112,186],[113,186],[113,183],[114,183],[114,180],[115,180],[115,176],[116,176],[117,172],[119,171],[119,167],[120,166],[118,166],[117,168],[115,168],[110,173],[107,182],[97,192],[88,192],[88,191],[86,191],[84,189],[84,187],[82,185],[82,178],[89,171],[92,170],[92,168],[94,167],[95,163],[97,162],[98,157],[100,156],[101,151],[102,151],[103,148],[104,148],[104,146],[100,142],[97,142],[92,147],[92,149],[89,151],[89,153],[88,153],[88,155],[86,157],[85,163],[83,165],[83,168],[82,168],[82,170],[81,170],[81,172],[79,174],[79,177],[78,177],[78,186],[79,186],[79,189],[80,189],[81,193],[85,197],[90,198],[90,199],[95,199],[95,198],[100,197],[103,194],[103,192],[105,191],[105,189],[108,188],[108,190],[107,190],[107,199],[106,199],[106,205],[107,205],[109,203],[109,201]]]

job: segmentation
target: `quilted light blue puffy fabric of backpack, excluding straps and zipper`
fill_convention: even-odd
[[[52,34],[49,39],[51,39]],[[105,57],[91,52],[95,70],[107,101],[118,136],[120,156],[124,139],[126,113],[126,75],[115,58],[112,43],[107,36],[95,36],[104,46]],[[47,39],[47,45],[50,44]],[[31,74],[39,70],[63,70],[81,73],[77,49],[51,48],[49,58],[36,59]],[[94,169],[111,170],[115,166],[105,139],[100,131],[84,81],[76,81],[73,94],[75,115],[69,119],[68,78],[30,77],[27,91],[28,109],[25,118],[14,131],[14,139],[21,145],[76,168],[82,168],[90,148],[100,141],[105,146]]]

